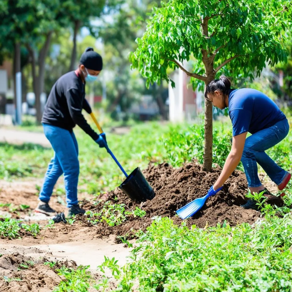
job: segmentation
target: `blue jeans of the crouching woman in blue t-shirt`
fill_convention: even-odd
[[[279,185],[287,171],[278,166],[265,150],[283,140],[289,132],[288,120],[284,119],[273,126],[263,129],[249,136],[245,140],[241,162],[248,182],[248,187],[259,187],[257,163],[264,169],[270,179]]]

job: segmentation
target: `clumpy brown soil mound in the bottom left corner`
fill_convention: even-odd
[[[28,264],[34,262],[33,265]],[[3,292],[49,292],[57,286],[62,278],[48,265],[44,265],[46,258],[35,261],[34,258],[18,252],[6,254],[0,258],[0,291]],[[19,268],[20,265],[29,266]],[[57,262],[54,269],[65,265],[76,267],[74,262]]]

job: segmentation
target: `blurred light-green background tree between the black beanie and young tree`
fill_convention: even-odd
[[[98,31],[98,36],[105,44],[105,68],[110,71],[108,75],[111,76],[107,82],[107,88],[110,89],[107,91],[110,112],[115,111],[118,105],[122,111],[126,111],[142,94],[151,93],[161,109],[161,114],[165,114],[161,98],[164,88],[154,85],[147,92],[145,80],[140,74],[131,71],[128,60],[129,51],[137,48],[135,39],[145,31],[145,20],[153,6],[160,6],[160,1],[127,0],[126,5],[113,15],[113,21],[105,22]]]

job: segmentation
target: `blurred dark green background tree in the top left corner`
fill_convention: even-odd
[[[20,71],[20,47],[29,52],[37,121],[41,121],[40,94],[44,91],[45,59],[53,32],[66,26],[59,0],[10,0],[0,12],[2,46],[14,49],[14,68]],[[3,15],[5,14],[5,15]],[[12,51],[13,51],[12,49]]]

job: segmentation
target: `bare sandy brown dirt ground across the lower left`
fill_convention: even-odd
[[[126,263],[130,254],[130,248],[124,244],[117,244],[114,235],[101,237],[95,226],[85,226],[77,218],[73,225],[58,223],[52,228],[44,227],[48,224],[48,217],[41,219],[34,216],[33,209],[37,204],[36,185],[41,185],[42,180],[17,180],[12,182],[0,181],[0,203],[11,204],[9,207],[1,207],[4,212],[14,218],[27,220],[25,223],[38,221],[42,227],[41,234],[37,237],[23,236],[21,239],[0,239],[0,291],[2,292],[49,292],[63,279],[50,266],[44,265],[51,261],[57,263],[60,268],[76,267],[77,265],[90,265],[89,271],[95,281],[101,278],[97,266],[104,261],[104,256],[115,258],[119,265]],[[92,199],[93,196],[83,194],[81,199]],[[65,196],[63,195],[65,200]],[[19,208],[20,204],[29,206],[25,210]],[[66,208],[58,202],[58,196],[53,195],[51,206],[57,211],[65,211]],[[11,210],[11,208],[14,210]],[[0,213],[1,214],[1,213]],[[133,242],[133,241],[131,241]],[[28,263],[34,263],[33,266]],[[21,265],[29,268],[20,268]],[[112,277],[106,270],[107,277]],[[114,285],[114,278],[110,278]],[[91,288],[89,291],[96,291]]]

